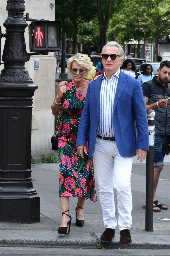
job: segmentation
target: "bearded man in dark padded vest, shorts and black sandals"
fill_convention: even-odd
[[[170,61],[162,61],[158,76],[142,84],[146,109],[155,111],[154,141],[154,198],[153,210],[160,212],[168,207],[155,198],[161,170],[164,167],[164,156],[170,151]],[[166,151],[165,151],[166,146]],[[146,205],[142,206],[144,209]]]

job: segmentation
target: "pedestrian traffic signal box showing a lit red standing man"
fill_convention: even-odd
[[[28,26],[30,51],[60,50],[61,21],[33,21]]]

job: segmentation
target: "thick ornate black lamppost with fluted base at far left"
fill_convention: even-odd
[[[8,0],[0,75],[0,221],[40,221],[40,197],[31,178],[31,114],[35,89],[28,70],[24,0]]]

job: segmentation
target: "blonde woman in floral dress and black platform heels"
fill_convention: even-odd
[[[79,119],[90,82],[84,78],[91,72],[92,62],[87,55],[77,53],[69,58],[67,68],[73,79],[58,84],[56,97],[51,106],[54,115],[59,113],[61,106],[58,138],[59,195],[62,207],[62,222],[58,229],[60,234],[69,234],[69,197],[78,197],[76,225],[79,227],[84,225],[82,209],[86,198],[97,201],[93,157],[88,157],[88,154],[84,153],[84,158],[81,158],[75,148]]]

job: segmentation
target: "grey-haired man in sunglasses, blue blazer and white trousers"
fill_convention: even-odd
[[[132,159],[137,153],[142,162],[149,150],[146,106],[139,81],[120,72],[124,58],[122,47],[110,41],[103,46],[101,56],[105,73],[89,84],[76,147],[84,157],[89,138],[89,156],[94,158],[106,227],[101,241],[111,242],[118,224],[120,243],[129,244],[132,241]],[[118,198],[118,222],[113,188]]]

